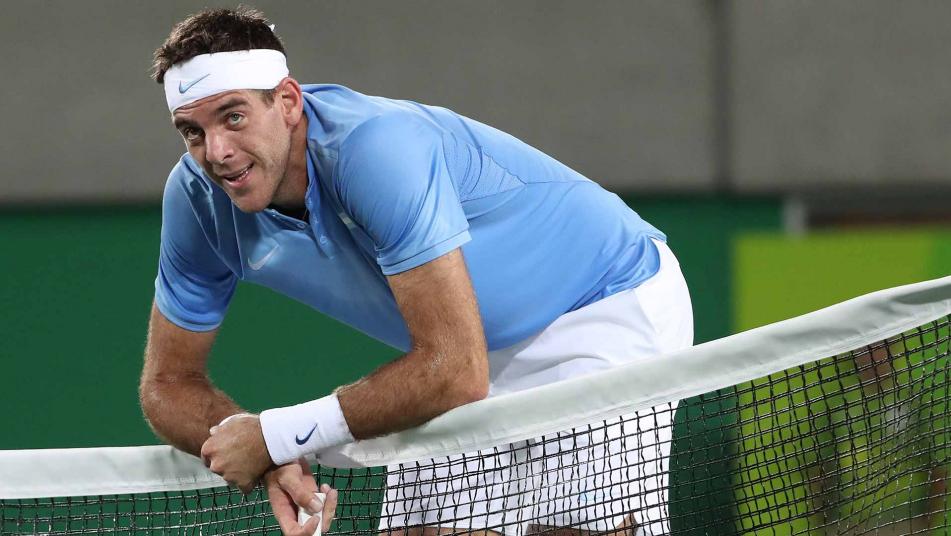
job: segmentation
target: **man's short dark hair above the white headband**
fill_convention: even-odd
[[[152,78],[161,84],[172,65],[201,54],[256,48],[284,53],[284,44],[260,11],[246,6],[199,11],[176,24],[168,39],[155,50]]]

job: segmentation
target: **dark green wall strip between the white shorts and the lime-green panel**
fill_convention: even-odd
[[[781,225],[778,200],[761,198],[670,197],[628,203],[667,233],[690,287],[695,341],[706,342],[731,333],[733,304],[733,242],[741,233],[776,232]],[[684,536],[735,532],[727,519],[734,513],[729,465],[735,456],[735,397],[695,397],[680,406],[671,449],[671,528]],[[698,500],[697,497],[703,497]]]

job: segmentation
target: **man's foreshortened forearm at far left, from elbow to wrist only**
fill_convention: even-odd
[[[204,377],[144,379],[142,410],[155,433],[165,442],[199,456],[208,429],[243,410]]]

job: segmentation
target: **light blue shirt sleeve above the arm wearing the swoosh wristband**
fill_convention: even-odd
[[[367,121],[341,146],[336,171],[336,194],[373,241],[385,275],[469,241],[442,134],[425,119],[400,112]]]

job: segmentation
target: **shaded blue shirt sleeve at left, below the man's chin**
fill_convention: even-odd
[[[210,331],[224,318],[237,276],[212,249],[189,199],[189,184],[207,185],[189,175],[179,163],[165,185],[155,304],[181,328]]]

